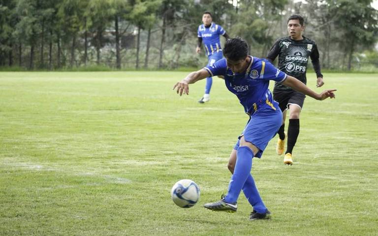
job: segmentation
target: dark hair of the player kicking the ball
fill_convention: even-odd
[[[239,61],[248,56],[248,43],[241,37],[229,38],[224,43],[223,56],[232,61]]]

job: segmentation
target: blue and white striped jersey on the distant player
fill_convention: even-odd
[[[206,49],[206,55],[213,55],[214,53],[222,51],[220,35],[226,32],[220,25],[211,23],[211,26],[206,28],[204,24],[198,26],[197,36],[202,38],[202,42]]]

